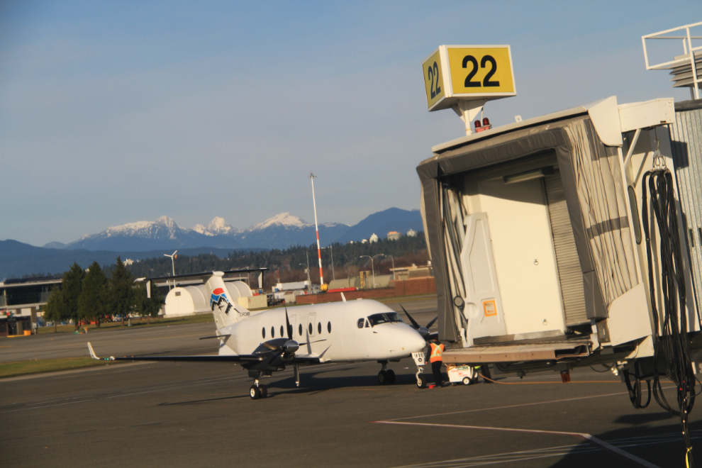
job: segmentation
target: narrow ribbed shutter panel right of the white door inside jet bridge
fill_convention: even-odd
[[[589,323],[585,310],[583,274],[575,247],[575,237],[560,172],[556,171],[554,174],[545,175],[544,186],[565,323],[566,325]]]

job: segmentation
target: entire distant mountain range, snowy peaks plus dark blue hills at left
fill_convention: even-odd
[[[319,238],[324,247],[367,239],[374,233],[384,238],[390,231],[406,234],[408,230],[423,230],[419,211],[389,208],[352,226],[321,224]],[[290,213],[280,213],[246,229],[233,228],[219,217],[208,225],[181,228],[172,218],[162,216],[156,221],[113,226],[67,244],[52,242],[35,247],[16,240],[0,240],[0,279],[38,272],[64,272],[73,262],[82,267],[93,261],[112,264],[117,255],[123,260],[142,260],[161,257],[177,249],[183,255],[211,252],[224,257],[232,250],[284,249],[315,242],[314,224]]]

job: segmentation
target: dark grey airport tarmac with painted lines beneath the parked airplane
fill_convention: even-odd
[[[418,322],[432,318],[430,301],[410,304]],[[190,349],[196,339],[182,337],[211,333],[202,325],[212,324],[145,330],[157,330],[151,352]],[[111,338],[93,342],[96,351],[132,340],[144,349],[143,331],[96,333]],[[60,352],[79,344],[60,341]],[[306,367],[299,388],[286,370],[264,380],[269,396],[256,401],[234,364],[111,364],[1,379],[0,466],[685,466],[679,419],[654,401],[632,408],[611,372],[577,369],[567,384],[544,372],[418,389],[411,360],[389,367],[391,386],[377,383],[377,363]],[[701,414],[691,414],[696,451]]]

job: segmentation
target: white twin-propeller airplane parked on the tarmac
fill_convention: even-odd
[[[250,312],[230,300],[223,280],[225,274],[261,271],[233,270],[137,280],[147,281],[150,293],[148,282],[157,279],[201,279],[211,294],[210,306],[217,326],[216,335],[201,340],[220,340],[218,355],[100,358],[88,343],[90,355],[96,360],[237,362],[254,379],[251,398],[259,399],[267,396],[261,377],[271,377],[286,366],[293,367],[295,384],[299,386],[300,365],[376,361],[382,364],[379,383],[393,384],[395,373],[387,369],[388,362],[421,352],[426,345],[428,327],[419,327],[410,318],[413,328],[388,306],[369,299],[346,301],[344,298],[343,302],[296,306],[291,311],[277,308],[260,312]],[[421,372],[422,367],[418,366],[418,386],[425,384]]]

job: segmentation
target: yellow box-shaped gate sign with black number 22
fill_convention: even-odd
[[[441,45],[422,68],[430,111],[517,94],[509,45]]]

